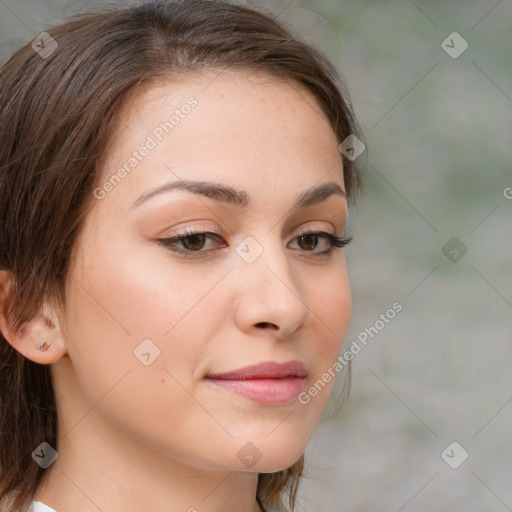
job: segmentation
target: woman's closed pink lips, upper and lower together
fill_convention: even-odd
[[[284,404],[295,400],[304,387],[306,368],[300,361],[265,362],[206,379],[228,391],[261,404]]]

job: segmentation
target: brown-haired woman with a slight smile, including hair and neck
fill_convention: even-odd
[[[0,116],[2,510],[293,510],[351,311],[332,65],[145,2],[16,52]]]

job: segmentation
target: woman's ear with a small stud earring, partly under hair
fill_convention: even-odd
[[[7,303],[13,288],[12,272],[0,270],[0,332],[12,347],[34,363],[57,362],[66,354],[57,315],[49,304],[44,303],[31,320],[14,332],[12,322],[7,316]]]

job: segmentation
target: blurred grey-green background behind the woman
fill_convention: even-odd
[[[0,0],[1,61],[115,3]],[[335,62],[366,145],[344,349],[367,343],[307,448],[299,510],[512,510],[512,1],[237,3]]]

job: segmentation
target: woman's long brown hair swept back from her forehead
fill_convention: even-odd
[[[261,70],[306,88],[340,142],[359,133],[333,65],[260,10],[157,0],[75,15],[47,32],[58,44],[53,53],[27,43],[0,74],[0,270],[13,277],[1,307],[14,331],[45,300],[65,307],[69,262],[117,114],[141,87],[204,69]],[[361,181],[340,156],[352,199]],[[20,510],[44,472],[32,451],[57,445],[56,403],[50,365],[26,359],[1,334],[0,431],[0,508]],[[287,490],[294,510],[303,467],[302,456],[260,474],[262,504],[286,510]]]

